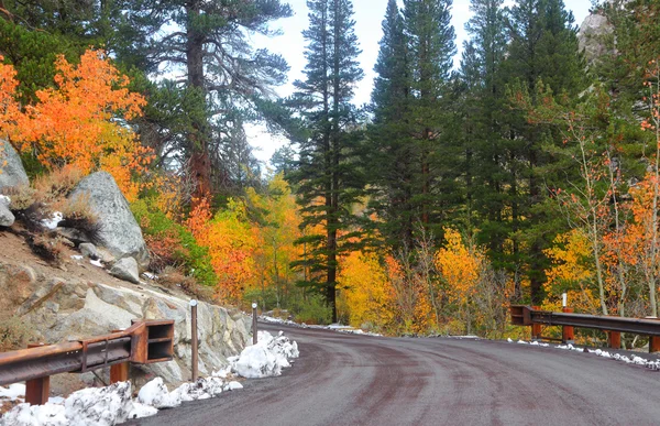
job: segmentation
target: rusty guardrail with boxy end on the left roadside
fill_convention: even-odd
[[[58,345],[38,345],[0,353],[0,385],[26,382],[25,401],[47,401],[50,376],[112,367],[111,381],[128,380],[128,363],[169,361],[174,320],[134,320],[125,330]]]

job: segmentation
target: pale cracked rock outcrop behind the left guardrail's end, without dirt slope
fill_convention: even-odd
[[[0,283],[21,273],[25,271],[0,266]],[[34,325],[46,343],[102,336],[130,327],[132,319],[174,319],[174,360],[133,365],[131,378],[136,385],[155,376],[172,385],[190,379],[193,336],[187,297],[164,294],[147,285],[123,287],[58,277],[43,278],[30,292],[14,302],[18,307],[8,305],[4,309]],[[197,309],[199,371],[211,374],[227,367],[227,358],[239,354],[250,341],[250,317],[204,302]]]

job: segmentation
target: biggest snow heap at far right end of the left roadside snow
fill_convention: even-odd
[[[239,375],[258,379],[282,374],[283,368],[290,367],[288,360],[299,354],[298,343],[292,342],[284,332],[273,337],[268,331],[258,331],[257,343],[246,347],[229,361]]]

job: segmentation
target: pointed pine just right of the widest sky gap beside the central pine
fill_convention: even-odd
[[[371,208],[380,231],[393,248],[413,247],[416,212],[413,207],[415,163],[409,136],[410,75],[404,20],[389,0],[372,92],[373,123],[369,129],[367,170],[372,183]]]

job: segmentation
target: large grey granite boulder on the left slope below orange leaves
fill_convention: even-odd
[[[90,208],[99,217],[102,245],[117,259],[134,258],[146,267],[148,251],[142,230],[114,178],[106,172],[87,176],[70,195],[72,199],[78,197],[89,197]]]

